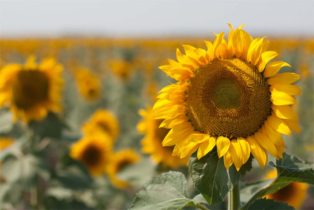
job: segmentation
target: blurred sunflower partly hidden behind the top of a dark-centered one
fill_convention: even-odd
[[[113,113],[101,109],[95,111],[89,121],[83,125],[82,129],[86,135],[106,133],[111,137],[111,142],[113,142],[119,134],[119,123]]]

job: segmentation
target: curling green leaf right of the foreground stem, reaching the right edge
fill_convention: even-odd
[[[244,209],[247,209],[254,200],[272,194],[289,185],[291,182],[313,184],[313,165],[308,161],[302,162],[295,156],[291,157],[284,153],[283,159],[277,160],[276,164],[273,162],[270,162],[269,164],[277,169],[277,177],[271,180],[246,184],[241,189],[241,195],[243,195],[242,197],[244,198],[250,197],[250,199],[243,207]]]

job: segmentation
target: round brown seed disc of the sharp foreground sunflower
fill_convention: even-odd
[[[246,137],[270,115],[268,84],[258,70],[237,58],[202,66],[187,91],[193,126],[212,136]]]

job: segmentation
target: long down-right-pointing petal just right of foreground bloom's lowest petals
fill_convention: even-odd
[[[264,169],[268,160],[266,150],[261,145],[259,145],[259,143],[257,143],[255,138],[252,136],[247,137],[247,142],[249,143],[251,152],[257,160],[258,164],[261,166],[262,169]]]

